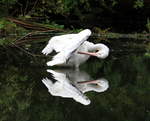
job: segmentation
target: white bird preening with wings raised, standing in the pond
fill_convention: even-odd
[[[77,34],[52,37],[42,53],[48,55],[54,50],[57,54],[51,61],[47,62],[47,65],[68,65],[78,68],[90,56],[106,58],[109,55],[109,48],[101,43],[94,44],[86,41],[90,35],[91,31],[85,29]]]

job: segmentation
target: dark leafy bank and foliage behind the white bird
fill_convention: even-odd
[[[27,20],[43,27],[67,30],[65,33],[90,28],[96,33],[95,36],[100,34],[102,40],[122,37],[118,33],[134,33],[132,37],[127,36],[147,39],[146,33],[150,32],[150,4],[147,3],[146,0],[1,0],[0,45],[9,45],[9,38],[18,39],[16,36],[6,38],[9,35],[25,36],[36,31],[35,28],[26,30],[18,26],[8,21],[8,17]]]

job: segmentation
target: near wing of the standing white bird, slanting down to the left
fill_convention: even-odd
[[[64,64],[67,62],[67,60],[71,57],[72,53],[74,53],[80,46],[81,44],[87,39],[87,37],[81,37],[81,36],[75,36],[72,37],[70,40],[70,44],[65,44],[63,48],[61,48],[58,54],[56,54],[52,61],[49,61],[47,63],[48,66],[53,66],[53,65],[59,65],[59,64]]]

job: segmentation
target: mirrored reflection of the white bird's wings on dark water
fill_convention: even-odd
[[[56,79],[64,79],[64,75],[59,74],[55,71],[53,72],[53,75],[56,76]],[[55,74],[54,74],[55,72]],[[60,76],[61,75],[61,76]],[[53,83],[50,79],[46,78],[43,79],[42,82],[45,84],[45,86],[48,88],[48,91],[53,96],[60,96],[65,98],[73,98],[75,101],[80,102],[84,105],[89,105],[90,100],[87,96],[85,96],[81,91],[79,91],[75,86],[73,86],[69,81],[66,80],[58,80],[55,83]]]

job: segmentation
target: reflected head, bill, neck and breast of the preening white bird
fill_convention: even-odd
[[[59,71],[60,72],[60,71]],[[109,83],[105,78],[93,80],[88,73],[79,70],[62,70],[61,73],[68,75],[73,84],[83,93],[89,91],[104,92],[108,89]]]

